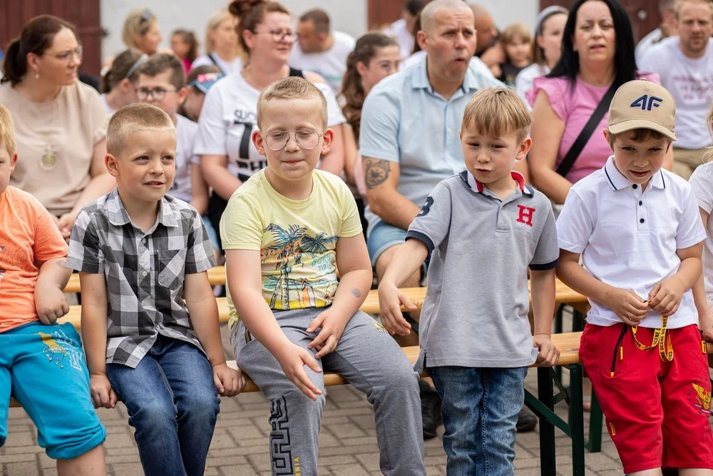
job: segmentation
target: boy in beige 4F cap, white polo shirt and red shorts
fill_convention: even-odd
[[[675,113],[663,86],[621,86],[604,131],[614,155],[575,183],[557,222],[558,276],[592,305],[580,358],[630,476],[713,475],[711,383],[691,292],[706,233],[689,184],[662,169]]]

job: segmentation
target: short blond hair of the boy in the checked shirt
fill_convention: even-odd
[[[106,151],[119,156],[127,138],[136,131],[173,131],[175,126],[161,108],[146,103],[134,103],[120,108],[111,116],[106,128]]]

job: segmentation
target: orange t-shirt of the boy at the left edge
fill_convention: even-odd
[[[68,247],[49,212],[29,193],[0,194],[0,333],[38,320],[37,261],[62,258]]]

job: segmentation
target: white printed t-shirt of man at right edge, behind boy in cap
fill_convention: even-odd
[[[697,59],[684,56],[677,36],[662,39],[643,56],[639,68],[661,76],[661,85],[676,100],[677,147],[696,149],[711,145],[705,118],[713,103],[713,39]]]

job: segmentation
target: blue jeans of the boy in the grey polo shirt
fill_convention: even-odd
[[[515,425],[525,401],[520,368],[431,367],[443,405],[448,476],[514,476]]]

